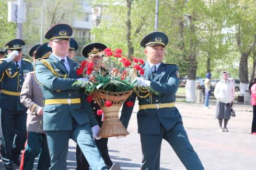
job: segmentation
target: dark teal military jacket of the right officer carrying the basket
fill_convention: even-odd
[[[150,87],[160,94],[152,95],[147,98],[138,97],[138,104],[157,104],[175,102],[176,91],[179,86],[178,67],[174,64],[161,63],[153,78],[151,68],[147,62],[142,66],[145,70],[144,79],[150,81]],[[143,93],[141,93],[143,96]],[[145,95],[145,94],[144,94]],[[136,95],[133,94],[128,100],[135,101]],[[133,107],[124,104],[120,120],[125,127],[128,126]],[[176,107],[159,109],[142,109],[137,112],[138,133],[140,134],[160,134],[160,125],[167,130],[171,129],[176,123],[181,122],[181,115]]]

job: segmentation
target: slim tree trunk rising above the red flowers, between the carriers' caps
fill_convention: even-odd
[[[131,10],[132,10],[132,0],[126,0],[126,6],[127,6],[127,20],[126,20],[126,40],[127,40],[127,48],[128,48],[128,57],[131,58],[133,53],[134,53],[134,48],[132,45],[132,40],[131,40],[131,30],[132,30],[132,25],[131,25]]]

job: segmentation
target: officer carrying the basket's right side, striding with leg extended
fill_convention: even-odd
[[[171,145],[187,169],[204,169],[189,142],[181,115],[174,104],[180,76],[176,65],[162,62],[167,43],[168,37],[162,32],[150,33],[141,41],[147,62],[142,66],[145,70],[144,77],[136,77],[135,80],[139,86],[150,87],[160,94],[138,97],[137,122],[143,153],[141,169],[160,169],[162,139]],[[145,95],[142,91],[137,91],[137,94]],[[131,98],[135,101],[135,97]],[[129,123],[132,110],[132,107],[123,106],[120,120],[125,127]]]

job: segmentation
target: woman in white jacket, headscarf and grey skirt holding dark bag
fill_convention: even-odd
[[[228,73],[222,73],[222,80],[220,80],[214,89],[214,96],[217,99],[216,103],[216,118],[219,122],[219,131],[228,132],[227,124],[231,115],[232,101],[235,100],[235,86],[228,80]],[[224,119],[224,127],[222,122]]]

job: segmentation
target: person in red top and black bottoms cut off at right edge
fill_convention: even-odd
[[[251,90],[251,105],[253,110],[251,134],[256,135],[256,78],[253,79]]]

